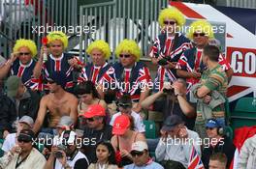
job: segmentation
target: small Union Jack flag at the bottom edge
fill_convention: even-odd
[[[201,160],[200,155],[198,155],[195,147],[192,147],[192,151],[189,157],[188,169],[204,169],[204,164]]]

